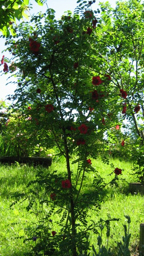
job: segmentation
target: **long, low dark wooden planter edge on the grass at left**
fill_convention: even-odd
[[[40,164],[44,167],[51,166],[52,158],[51,157],[18,157],[18,156],[1,156],[1,163],[15,163],[18,162],[20,164],[33,164],[34,166]]]

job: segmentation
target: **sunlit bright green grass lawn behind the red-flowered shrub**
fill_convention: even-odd
[[[144,222],[144,198],[140,194],[131,195],[128,192],[129,182],[134,181],[132,174],[131,164],[129,162],[120,161],[117,159],[111,159],[110,163],[114,164],[114,168],[118,167],[124,169],[122,175],[119,175],[119,186],[111,188],[107,186],[104,188],[104,193],[101,195],[104,199],[104,203],[101,205],[101,210],[91,210],[87,208],[89,214],[88,222],[90,219],[96,223],[100,218],[106,220],[107,214],[110,214],[112,218],[119,218],[119,221],[111,223],[110,230],[110,244],[114,250],[116,243],[124,235],[123,226],[126,222],[124,215],[129,215],[131,218],[130,233],[132,233],[131,244],[138,243],[140,223]],[[109,174],[113,171],[110,165],[103,164],[100,159],[92,160],[92,166],[99,172],[105,182],[108,183],[114,174]],[[76,170],[76,164],[71,165],[73,172]],[[24,252],[28,252],[32,248],[34,242],[23,243],[24,238],[28,238],[26,228],[32,229],[32,225],[35,226],[36,216],[27,212],[25,207],[27,201],[22,204],[15,204],[9,209],[10,204],[15,200],[14,193],[27,193],[27,184],[30,180],[34,179],[35,174],[42,167],[28,167],[26,165],[5,165],[0,166],[0,255],[2,256],[22,256]],[[66,177],[66,163],[57,162],[53,163],[49,169],[44,168],[45,172],[52,172],[58,170],[60,174]],[[94,193],[92,181],[94,175],[90,172],[86,174],[84,178],[84,189],[87,192],[91,190]],[[39,196],[44,196],[43,188],[34,187]],[[46,196],[46,195],[45,195]],[[37,209],[38,210],[38,209]],[[47,206],[43,205],[42,211],[46,211]],[[55,224],[55,220],[60,219],[59,214],[54,214],[52,217],[52,224],[49,228],[57,230],[58,227]],[[19,237],[22,236],[20,239]],[[90,232],[90,245],[97,244],[97,235]],[[104,229],[103,244],[106,245],[106,230]]]

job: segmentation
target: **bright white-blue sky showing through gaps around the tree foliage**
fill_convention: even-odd
[[[56,11],[55,13],[56,19],[60,19],[62,14],[64,14],[64,12],[67,10],[74,12],[74,9],[78,5],[76,2],[77,0],[53,0],[53,1],[47,0],[46,1],[48,8],[52,8]],[[98,8],[99,2],[106,2],[106,1],[96,0],[96,3],[92,4],[93,10],[96,10]],[[109,0],[109,2],[113,8],[116,6],[116,0]],[[30,14],[37,14],[40,11],[45,12],[47,9],[46,4],[44,4],[43,6],[39,6],[34,0],[30,0],[30,3],[32,4],[32,9],[30,10]],[[5,42],[6,42],[5,38],[0,38],[0,56],[1,56],[0,60],[2,58],[2,55],[10,58],[10,54],[8,52],[4,52],[3,54],[1,53],[2,50],[5,49],[5,45],[4,45]],[[3,70],[3,65],[0,66],[0,71],[1,70]],[[9,74],[5,75],[3,74],[3,72],[2,72],[2,76],[0,76],[0,100],[6,100],[7,95],[13,94],[14,90],[16,89],[16,85],[13,85],[13,84],[6,85],[8,82],[10,82],[11,78],[8,79],[9,76],[10,76]],[[14,81],[14,78],[12,78],[11,80]]]

